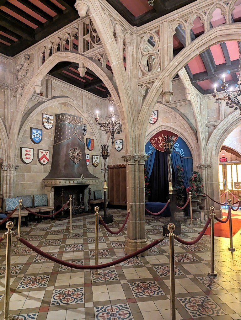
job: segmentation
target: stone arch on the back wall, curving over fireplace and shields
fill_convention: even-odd
[[[91,130],[93,131],[95,138],[97,140],[97,144],[100,150],[100,145],[101,145],[101,139],[100,139],[100,134],[97,131],[96,126],[93,124],[93,121],[90,119],[88,114],[84,111],[83,108],[72,98],[68,96],[57,96],[52,99],[49,99],[47,101],[43,102],[38,102],[36,103],[29,111],[28,113],[25,114],[25,117],[23,118],[22,121],[22,127],[20,128],[20,132],[18,135],[18,140],[17,140],[17,146],[16,146],[16,152],[15,152],[15,157],[17,157],[17,153],[19,151],[19,145],[23,136],[24,131],[26,130],[30,120],[36,116],[40,111],[42,111],[44,108],[47,108],[53,104],[56,103],[68,103],[71,107],[75,108],[79,113],[80,116],[82,116],[87,124],[91,127]]]

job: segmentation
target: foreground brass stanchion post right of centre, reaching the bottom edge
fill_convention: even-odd
[[[171,300],[171,320],[176,320],[176,304],[175,304],[175,262],[174,262],[174,223],[169,223],[169,255],[170,255],[170,300]]]

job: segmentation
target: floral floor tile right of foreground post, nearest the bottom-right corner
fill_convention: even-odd
[[[179,298],[178,300],[181,302],[183,307],[188,311],[193,319],[226,314],[226,312],[224,312],[208,296]]]

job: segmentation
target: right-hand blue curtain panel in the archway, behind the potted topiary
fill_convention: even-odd
[[[183,184],[185,188],[189,187],[189,178],[192,175],[192,158],[183,158],[177,152],[172,153],[172,164],[173,170],[175,172],[175,177],[177,176],[177,165],[180,164],[183,168]]]

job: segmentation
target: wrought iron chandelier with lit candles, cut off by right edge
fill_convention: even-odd
[[[239,60],[239,67],[238,67],[238,76],[237,76],[237,86],[236,88],[232,89],[228,88],[228,84],[225,81],[225,74],[222,75],[222,84],[221,88],[224,90],[225,95],[223,97],[219,97],[217,93],[217,84],[214,84],[214,93],[213,97],[216,100],[215,103],[221,103],[221,100],[226,101],[226,106],[229,106],[229,108],[234,108],[234,110],[239,110],[241,115],[241,102],[238,99],[238,97],[241,95],[241,51],[240,51],[240,41],[238,43],[238,60]]]

